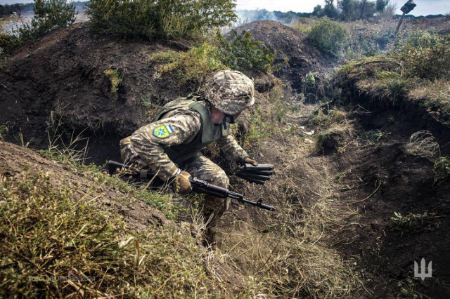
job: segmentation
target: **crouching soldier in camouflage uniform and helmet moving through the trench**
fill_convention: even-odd
[[[241,72],[217,72],[207,85],[205,96],[188,95],[167,103],[153,121],[120,141],[124,164],[148,166],[175,192],[191,191],[189,177],[228,188],[225,172],[200,153],[217,141],[226,159],[257,166],[229,134],[229,124],[255,102],[253,81]],[[216,247],[217,220],[229,207],[229,199],[205,197],[205,245]]]

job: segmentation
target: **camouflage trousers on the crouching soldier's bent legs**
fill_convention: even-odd
[[[141,168],[146,166],[139,159],[139,155],[132,149],[129,138],[124,138],[120,141],[120,155],[124,164],[136,163]],[[200,152],[195,157],[178,165],[178,167],[181,171],[187,171],[193,177],[210,182],[212,185],[223,188],[229,187],[229,178],[226,176],[225,171],[213,161],[203,156],[203,154],[200,154]],[[229,205],[230,199],[205,196],[203,200],[203,216],[206,227],[209,228],[217,225],[217,221],[228,210]]]

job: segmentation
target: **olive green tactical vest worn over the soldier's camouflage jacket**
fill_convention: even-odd
[[[174,145],[172,147],[164,147],[164,152],[169,156],[175,164],[180,164],[195,156],[203,147],[219,140],[221,136],[229,135],[229,124],[212,124],[210,112],[207,107],[200,102],[205,98],[200,95],[188,95],[186,98],[179,98],[172,102],[168,102],[162,107],[160,112],[156,114],[152,121],[158,121],[161,117],[174,109],[188,107],[200,114],[201,128],[200,132],[187,145]]]

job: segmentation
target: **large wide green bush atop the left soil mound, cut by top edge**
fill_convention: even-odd
[[[231,0],[91,0],[86,13],[96,32],[151,40],[230,25],[235,6]]]

